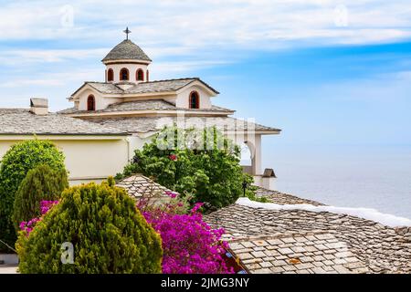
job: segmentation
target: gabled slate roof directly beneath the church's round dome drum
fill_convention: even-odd
[[[119,88],[114,83],[87,81],[87,82],[84,82],[83,86],[77,89],[71,96],[74,96],[77,92],[79,92],[80,89],[82,89],[86,85],[90,85],[93,89],[96,89],[97,91],[103,94],[143,94],[143,93],[176,91],[178,89],[184,88],[185,86],[195,81],[200,81],[201,83],[205,85],[205,87],[207,87],[208,89],[218,94],[218,91],[216,91],[216,89],[213,89],[212,87],[210,87],[200,78],[181,78],[181,79],[141,82],[141,83],[135,84],[132,88],[129,88],[126,90]]]

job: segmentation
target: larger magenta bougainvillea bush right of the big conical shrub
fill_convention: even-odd
[[[222,257],[227,248],[227,243],[220,241],[224,230],[212,229],[203,221],[199,212],[203,203],[196,203],[189,214],[175,214],[175,205],[181,203],[177,200],[165,208],[142,211],[162,237],[163,273],[233,274]]]

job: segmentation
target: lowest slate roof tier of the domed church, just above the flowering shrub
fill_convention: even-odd
[[[173,125],[176,122],[175,117],[123,117],[123,118],[103,118],[92,119],[104,127],[117,127],[120,130],[129,133],[146,133],[150,131],[162,130],[165,125]],[[276,128],[266,127],[257,123],[245,122],[231,117],[205,118],[205,117],[185,117],[184,124],[186,128],[200,128],[216,126],[220,130],[269,130],[280,131]]]

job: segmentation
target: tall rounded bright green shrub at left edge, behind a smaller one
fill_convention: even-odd
[[[13,206],[16,191],[27,172],[38,165],[63,170],[64,155],[51,141],[30,140],[18,142],[5,153],[0,165],[0,239],[8,245],[16,242],[13,224]],[[0,245],[0,250],[6,250]]]

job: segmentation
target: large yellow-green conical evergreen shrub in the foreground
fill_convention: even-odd
[[[63,243],[74,263],[62,264]],[[16,243],[21,273],[161,273],[162,243],[127,193],[109,183],[69,188]]]

